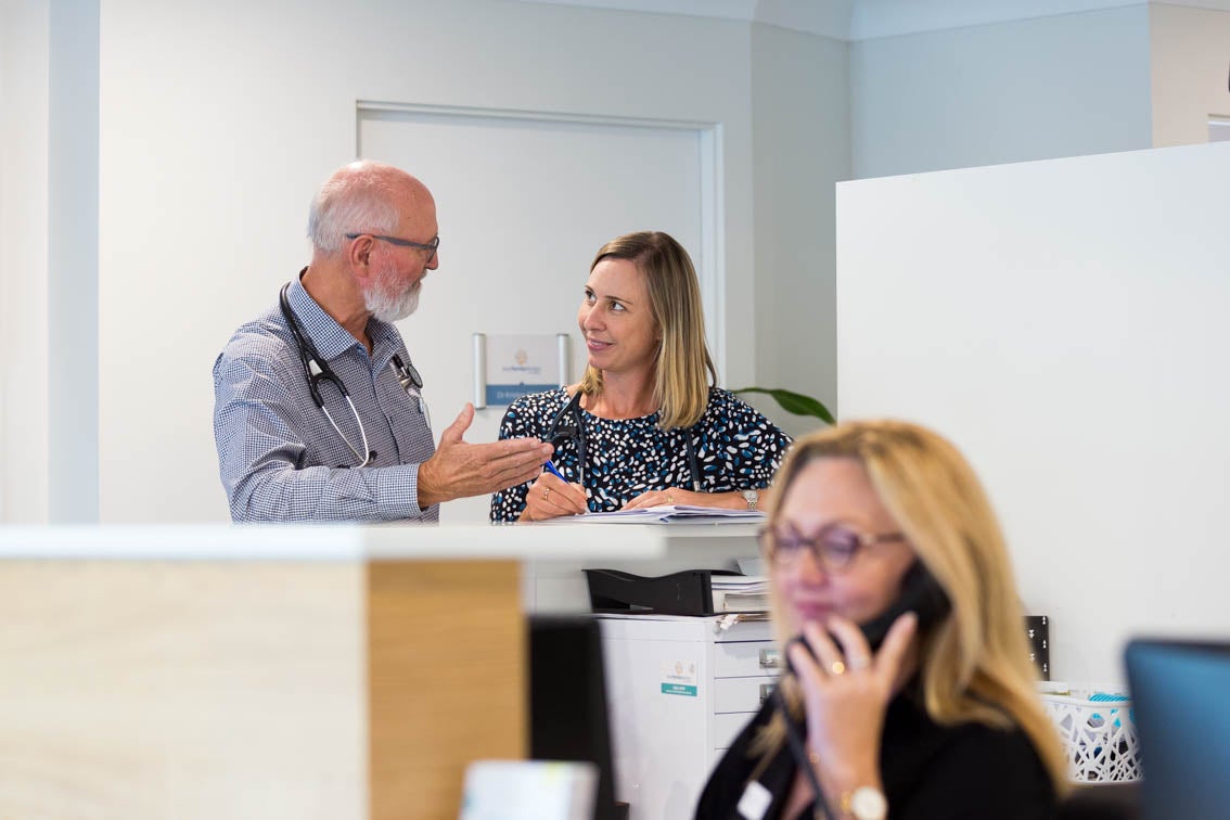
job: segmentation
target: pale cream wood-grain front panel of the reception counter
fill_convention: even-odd
[[[0,818],[368,815],[362,564],[0,564]]]

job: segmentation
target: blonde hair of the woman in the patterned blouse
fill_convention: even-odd
[[[669,234],[638,231],[598,248],[589,270],[603,259],[627,259],[645,277],[654,329],[662,334],[653,380],[658,427],[691,427],[705,414],[717,369],[705,342],[700,283],[688,251]],[[597,397],[601,391],[601,371],[585,368],[581,392]]]

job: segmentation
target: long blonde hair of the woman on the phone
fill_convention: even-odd
[[[876,495],[905,534],[918,559],[940,581],[952,611],[920,636],[924,704],[940,724],[1020,727],[1033,743],[1058,794],[1068,788],[1066,760],[1038,697],[1025,620],[999,522],[982,483],[961,452],[916,424],[846,422],[800,439],[774,482],[769,521],[800,472],[818,459],[851,459],[867,471]],[[782,602],[774,600],[784,629]],[[777,634],[781,645],[791,636]],[[784,687],[792,711],[797,688]],[[780,746],[780,716],[754,751]]]

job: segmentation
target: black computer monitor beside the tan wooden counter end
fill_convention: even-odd
[[[615,803],[601,633],[589,616],[534,615],[530,625],[530,757],[598,766],[594,820],[627,816]]]

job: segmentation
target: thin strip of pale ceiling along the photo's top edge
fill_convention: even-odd
[[[834,39],[871,39],[1124,6],[1230,11],[1230,0],[522,0],[761,22]]]

